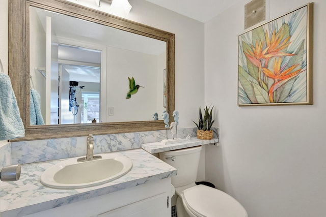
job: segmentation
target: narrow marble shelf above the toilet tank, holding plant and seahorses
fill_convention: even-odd
[[[171,151],[171,150],[195,147],[195,146],[206,145],[206,144],[219,145],[219,139],[213,138],[211,140],[201,140],[194,137],[190,139],[183,139],[183,141],[180,143],[168,144],[168,145],[162,142],[144,143],[142,144],[142,148],[148,151],[149,153],[159,153],[163,151]]]

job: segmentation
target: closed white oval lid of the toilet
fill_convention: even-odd
[[[188,209],[197,216],[248,217],[243,206],[230,195],[206,185],[183,191]]]

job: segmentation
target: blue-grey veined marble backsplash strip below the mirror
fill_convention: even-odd
[[[178,129],[178,138],[185,138],[187,135],[196,137],[196,131],[197,128]],[[214,138],[218,138],[218,129],[214,128],[213,131]],[[86,138],[84,136],[12,142],[10,146],[0,147],[0,167],[84,156]],[[170,130],[168,138],[171,138]],[[143,143],[162,139],[166,139],[165,130],[97,135],[94,136],[94,154],[141,148]]]

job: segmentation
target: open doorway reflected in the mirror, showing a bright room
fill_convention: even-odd
[[[59,44],[58,53],[58,124],[99,122],[101,51]]]

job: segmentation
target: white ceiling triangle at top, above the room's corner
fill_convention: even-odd
[[[203,23],[241,0],[146,0]],[[132,10],[132,9],[131,9]]]

